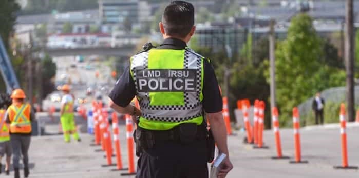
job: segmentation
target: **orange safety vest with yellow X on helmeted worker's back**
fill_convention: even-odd
[[[12,104],[8,108],[11,133],[31,132],[30,112],[31,106],[29,104],[21,104],[20,106]]]

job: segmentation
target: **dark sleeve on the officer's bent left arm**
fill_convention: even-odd
[[[125,69],[115,87],[108,97],[121,107],[126,107],[136,95],[136,87],[133,78],[129,72],[129,67]]]

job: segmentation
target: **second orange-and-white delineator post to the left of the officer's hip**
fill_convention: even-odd
[[[112,130],[114,132],[114,142],[115,142],[115,151],[116,151],[116,169],[111,169],[111,171],[118,170],[127,170],[128,168],[123,168],[122,157],[121,157],[121,147],[120,147],[120,138],[119,138],[119,120],[117,118],[116,112],[112,112]]]

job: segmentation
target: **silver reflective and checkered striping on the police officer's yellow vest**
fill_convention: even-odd
[[[136,95],[139,98],[139,104],[143,113],[143,117],[148,120],[165,121],[165,122],[180,122],[191,120],[202,115],[202,103],[200,94],[202,91],[202,62],[204,57],[195,53],[193,50],[186,48],[184,50],[183,69],[196,70],[197,88],[193,92],[183,92],[184,105],[158,105],[151,106],[149,92],[138,92],[136,81],[137,70],[148,69],[148,54],[149,52],[142,52],[131,57],[130,70],[135,81]],[[158,111],[172,111],[172,112],[158,112]],[[181,118],[178,117],[178,112],[181,111]]]

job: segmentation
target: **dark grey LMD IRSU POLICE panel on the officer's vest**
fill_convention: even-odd
[[[144,69],[136,71],[139,91],[196,91],[195,69]]]

